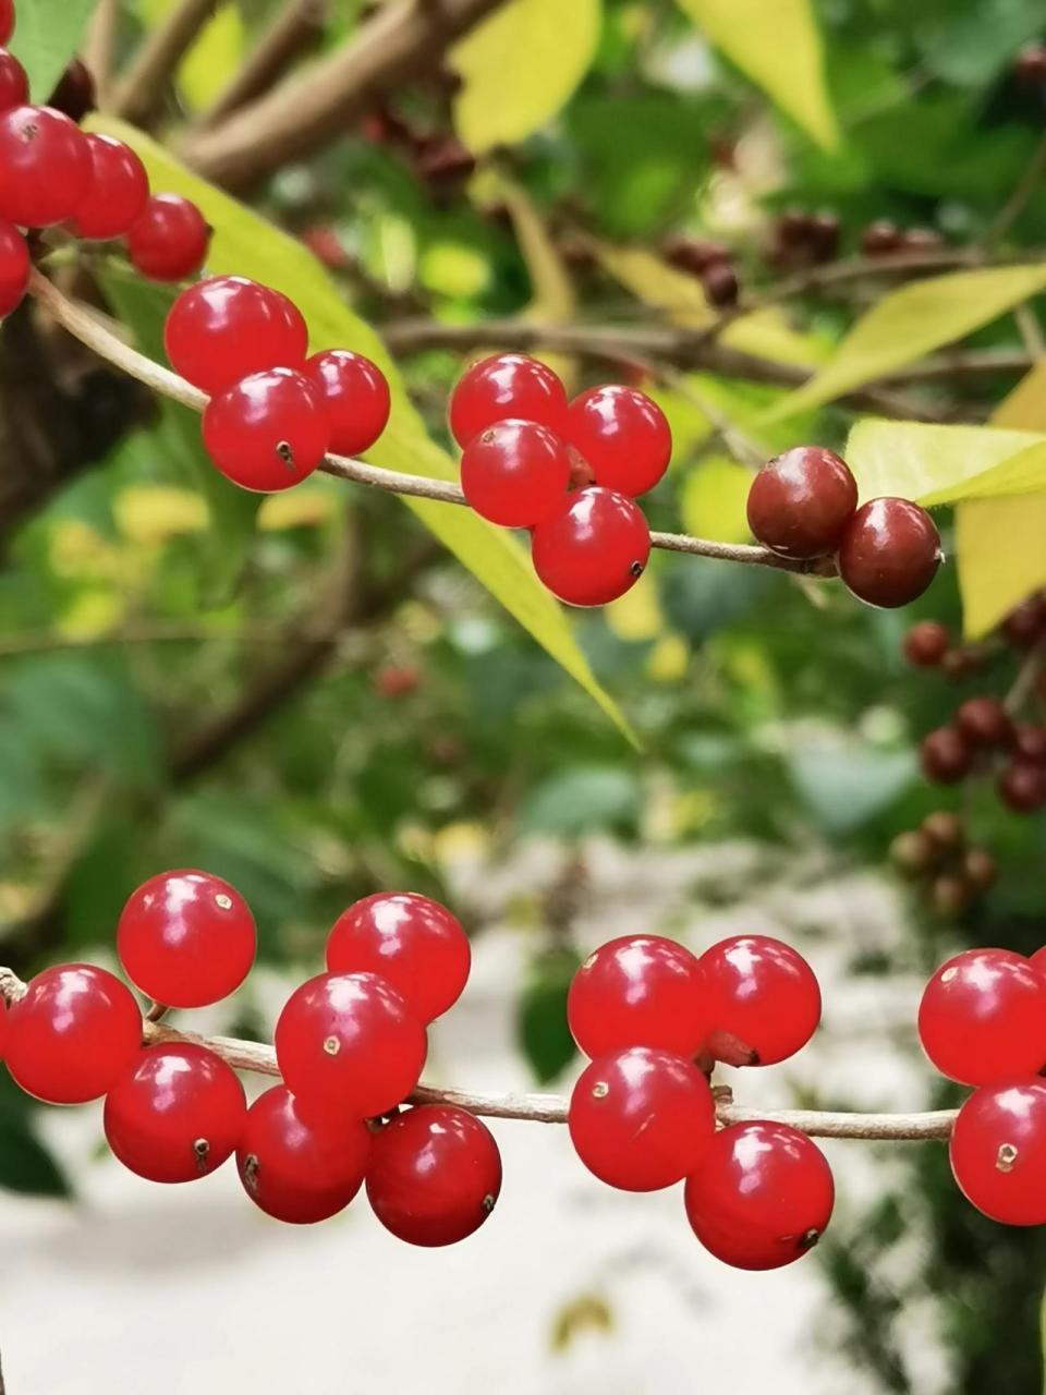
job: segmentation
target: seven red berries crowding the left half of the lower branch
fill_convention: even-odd
[[[170,1007],[204,1007],[243,983],[255,926],[243,897],[204,872],[165,872],[117,929],[131,982]],[[471,1235],[501,1189],[501,1156],[473,1115],[400,1112],[421,1076],[427,1025],[460,996],[469,940],[442,905],[409,893],[351,905],[276,1024],[283,1084],[248,1109],[233,1069],[188,1041],[142,1046],[130,989],[88,964],[45,970],[0,1018],[7,1066],[38,1099],[105,1095],[109,1147],[151,1182],[191,1182],[236,1154],[251,1200],[298,1225],[336,1215],[365,1183],[378,1219],[414,1244]]]

